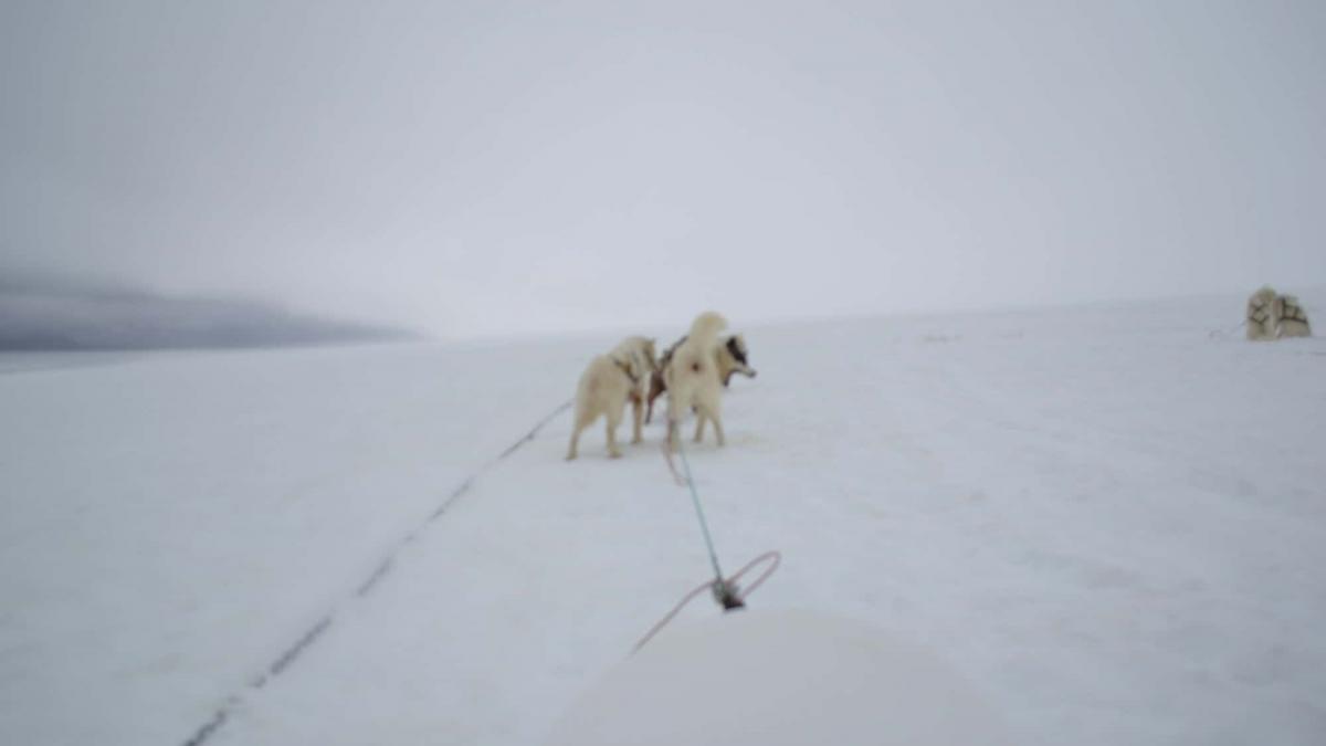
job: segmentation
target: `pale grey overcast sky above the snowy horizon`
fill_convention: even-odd
[[[444,337],[1326,284],[1326,3],[0,5],[0,272]]]

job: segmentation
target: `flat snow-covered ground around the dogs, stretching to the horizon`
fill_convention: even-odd
[[[735,317],[724,565],[1022,743],[1326,742],[1326,344],[1241,309]],[[493,462],[615,341],[0,356],[0,743],[538,742],[709,572],[658,423]]]

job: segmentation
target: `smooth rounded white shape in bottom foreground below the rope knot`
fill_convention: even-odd
[[[549,746],[1012,746],[932,650],[808,611],[670,631],[617,665]]]

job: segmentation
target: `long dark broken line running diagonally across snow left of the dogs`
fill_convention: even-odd
[[[381,583],[382,579],[391,572],[391,568],[395,564],[395,558],[396,555],[400,554],[400,550],[403,550],[407,544],[418,539],[419,535],[428,527],[428,524],[436,522],[439,518],[446,515],[446,512],[451,508],[451,506],[453,506],[456,500],[459,500],[461,496],[465,495],[465,492],[469,491],[476,479],[479,479],[480,477],[483,477],[484,474],[499,466],[509,455],[518,451],[525,443],[538,437],[540,430],[542,430],[549,422],[552,422],[554,417],[570,409],[570,406],[572,401],[562,402],[557,409],[548,413],[542,419],[540,419],[538,423],[529,430],[529,433],[524,434],[518,441],[516,441],[514,443],[508,446],[504,451],[497,454],[496,458],[481,465],[477,470],[475,470],[473,474],[467,477],[460,485],[457,485],[451,492],[448,492],[447,498],[442,502],[442,504],[439,504],[436,510],[428,514],[428,518],[424,519],[423,523],[420,523],[412,531],[402,536],[400,540],[396,542],[394,547],[391,547],[391,550],[382,559],[382,561],[379,561],[374,567],[373,572],[370,572],[369,576],[355,587],[353,595],[347,600],[363,599],[369,593],[371,593],[373,589],[378,585],[378,583]],[[298,660],[298,657],[304,654],[305,650],[313,646],[313,644],[322,637],[322,633],[325,633],[328,628],[332,627],[332,623],[335,621],[335,613],[337,608],[333,608],[326,615],[324,615],[316,624],[309,627],[309,629],[305,631],[298,640],[286,646],[281,652],[281,654],[278,654],[263,670],[263,673],[255,677],[249,682],[247,689],[248,690],[263,689],[264,686],[267,686],[268,681],[285,673],[290,668],[290,665],[293,665]],[[235,708],[240,705],[240,702],[243,701],[243,696],[244,690],[227,697],[225,701],[219,708],[216,708],[216,711],[212,714],[212,717],[207,722],[200,725],[196,730],[194,730],[194,733],[183,742],[183,746],[202,746],[212,735],[216,735],[216,733],[227,723],[227,721],[229,721],[231,713],[235,711]]]

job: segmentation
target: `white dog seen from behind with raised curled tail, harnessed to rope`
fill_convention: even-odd
[[[691,333],[672,353],[672,360],[663,372],[667,384],[667,429],[668,446],[676,449],[678,423],[682,417],[695,409],[695,442],[704,438],[704,423],[713,421],[713,434],[721,446],[723,380],[719,376],[715,353],[721,341],[719,335],[728,328],[728,321],[717,312],[707,311],[691,324]]]

